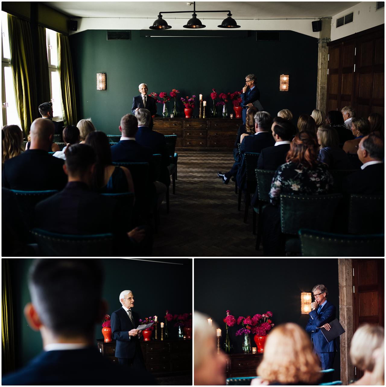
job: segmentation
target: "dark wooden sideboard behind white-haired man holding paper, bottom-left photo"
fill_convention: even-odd
[[[109,360],[118,363],[115,357],[115,341],[97,339],[98,351]],[[141,339],[141,349],[146,370],[154,377],[185,375],[192,373],[192,340]]]

